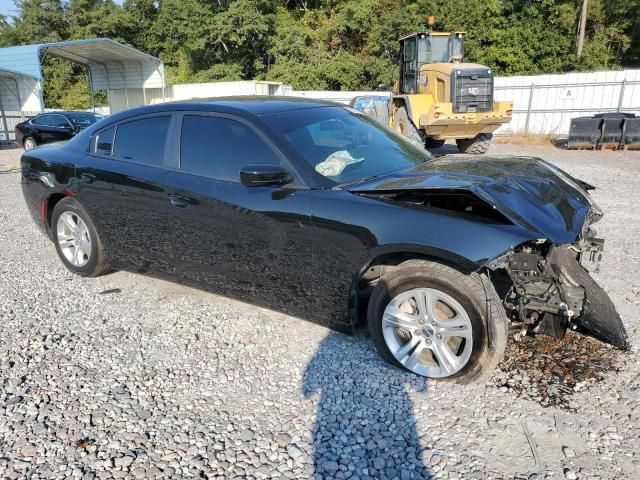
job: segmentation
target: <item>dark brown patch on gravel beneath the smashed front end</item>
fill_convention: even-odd
[[[620,350],[568,331],[563,339],[539,335],[511,341],[494,385],[543,407],[574,411],[571,396],[618,371]]]

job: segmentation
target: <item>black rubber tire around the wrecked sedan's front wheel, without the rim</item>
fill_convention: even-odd
[[[432,261],[404,262],[385,274],[374,288],[367,316],[369,332],[380,356],[392,365],[405,368],[387,346],[382,317],[391,299],[414,288],[433,288],[446,293],[464,308],[471,320],[473,341],[467,363],[457,373],[440,379],[462,384],[485,380],[504,358],[507,345],[508,321],[502,302],[486,276],[467,275]]]

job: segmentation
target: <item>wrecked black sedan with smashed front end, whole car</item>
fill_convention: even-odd
[[[26,152],[22,187],[78,275],[126,269],[366,327],[382,357],[419,375],[483,377],[510,331],[573,328],[627,347],[589,275],[603,244],[593,187],[535,158],[434,159],[347,107],[129,110]]]

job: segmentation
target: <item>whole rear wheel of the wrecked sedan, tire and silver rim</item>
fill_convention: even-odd
[[[75,199],[60,200],[51,222],[53,241],[67,269],[83,277],[108,270],[104,247],[87,212]]]

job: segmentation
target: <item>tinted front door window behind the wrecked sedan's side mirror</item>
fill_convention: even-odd
[[[239,180],[249,164],[280,164],[258,134],[228,118],[186,115],[180,140],[180,169],[225,180]]]

